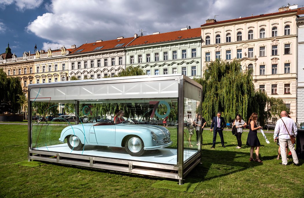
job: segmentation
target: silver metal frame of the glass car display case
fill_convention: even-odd
[[[158,177],[165,177],[171,179],[178,179],[178,183],[182,184],[183,179],[188,173],[195,168],[195,166],[201,163],[201,148],[198,148],[198,152],[192,155],[187,161],[184,162],[184,95],[185,95],[185,83],[188,82],[192,86],[199,88],[199,95],[202,95],[202,86],[196,83],[194,80],[181,74],[172,75],[160,75],[160,76],[128,76],[117,78],[105,78],[98,80],[75,80],[75,81],[63,81],[55,83],[43,83],[43,84],[30,84],[28,86],[28,107],[29,115],[33,113],[33,95],[36,96],[36,92],[31,94],[34,88],[59,88],[67,86],[81,86],[81,85],[96,85],[96,84],[111,84],[111,83],[141,83],[148,81],[164,81],[178,83],[178,140],[177,140],[177,164],[156,164],[151,162],[137,161],[137,160],[125,160],[109,157],[97,157],[81,154],[70,154],[54,151],[37,150],[32,145],[32,119],[28,122],[28,159],[38,161],[48,161],[53,163],[70,164],[76,166],[84,166],[91,168],[99,168],[113,171],[122,171],[129,173],[136,173],[141,175],[152,175]],[[40,91],[39,89],[39,91]],[[39,92],[38,92],[39,94]],[[37,96],[38,96],[37,94]],[[43,94],[42,94],[43,95]],[[34,97],[35,97],[34,96]],[[132,98],[132,97],[130,97]],[[34,100],[35,101],[35,100]],[[71,103],[72,100],[69,100]],[[51,101],[54,102],[54,101]],[[55,100],[55,102],[58,102]],[[201,100],[200,100],[201,102]],[[75,104],[79,104],[79,101],[74,100]],[[78,105],[75,105],[75,111],[79,112]],[[77,124],[77,123],[76,123]],[[200,138],[199,138],[200,139]],[[200,140],[199,140],[200,141]]]

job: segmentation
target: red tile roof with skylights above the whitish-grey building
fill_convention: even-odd
[[[79,53],[84,53],[84,52],[89,52],[89,51],[103,51],[103,50],[109,50],[113,48],[123,48],[127,44],[129,44],[134,37],[129,37],[129,38],[122,38],[122,39],[115,39],[115,40],[110,40],[110,41],[101,41],[101,42],[95,42],[95,43],[87,43],[79,46],[74,50],[71,54],[79,54]],[[117,44],[122,44],[121,46],[115,47]],[[103,46],[103,47],[102,47]],[[102,47],[99,50],[94,50],[97,47]],[[77,52],[78,50],[81,50]]]

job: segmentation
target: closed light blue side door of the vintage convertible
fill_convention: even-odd
[[[111,125],[93,125],[90,128],[89,141],[97,145],[115,144],[115,125],[112,123],[104,124]]]

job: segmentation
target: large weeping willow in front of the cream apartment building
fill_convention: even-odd
[[[237,60],[210,62],[206,65],[204,78],[195,81],[203,87],[202,116],[206,120],[211,120],[218,111],[227,122],[237,114],[246,120],[252,112],[262,113],[263,109],[263,116],[259,119],[261,124],[264,123],[267,95],[256,92],[250,72],[242,72]]]

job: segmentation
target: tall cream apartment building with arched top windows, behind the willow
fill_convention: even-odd
[[[297,10],[284,7],[270,14],[206,20],[201,26],[202,70],[217,58],[237,58],[243,71],[252,70],[255,88],[282,98],[296,120],[296,16]]]

